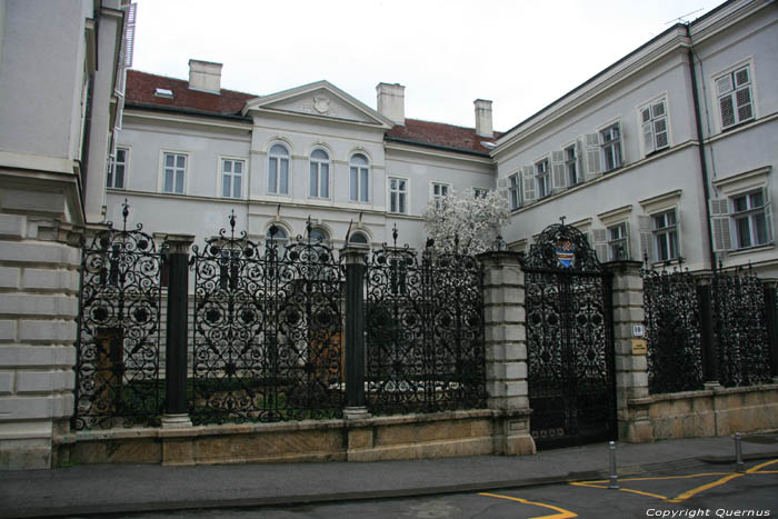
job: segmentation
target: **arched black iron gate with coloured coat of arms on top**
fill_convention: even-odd
[[[616,433],[610,277],[585,236],[553,224],[525,260],[530,429],[538,448]]]

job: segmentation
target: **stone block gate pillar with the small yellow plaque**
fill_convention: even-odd
[[[629,401],[648,397],[648,363],[639,348],[632,349],[634,327],[644,326],[642,278],[639,261],[617,261],[606,265],[612,275],[614,350],[616,366],[616,416],[619,439],[630,442],[654,441],[647,406]]]

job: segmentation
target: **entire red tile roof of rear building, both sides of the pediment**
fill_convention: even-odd
[[[158,88],[173,92],[172,99],[156,96]],[[157,76],[138,70],[127,71],[126,102],[129,107],[147,106],[196,111],[212,116],[240,116],[240,111],[250,99],[260,96],[221,89],[220,94],[190,90],[189,82]],[[493,142],[501,133],[488,139],[476,134],[472,128],[429,122],[418,119],[406,119],[405,126],[396,126],[386,133],[387,140],[421,144],[433,148],[445,148],[453,151],[487,154],[488,148],[482,141]]]

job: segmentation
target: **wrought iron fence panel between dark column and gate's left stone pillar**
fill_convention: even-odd
[[[373,413],[483,407],[482,275],[458,253],[395,244],[367,259],[366,401]]]

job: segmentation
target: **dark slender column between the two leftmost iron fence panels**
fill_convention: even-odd
[[[162,427],[192,427],[187,402],[187,317],[189,296],[189,247],[192,234],[168,234],[168,318],[164,348],[164,415]]]

